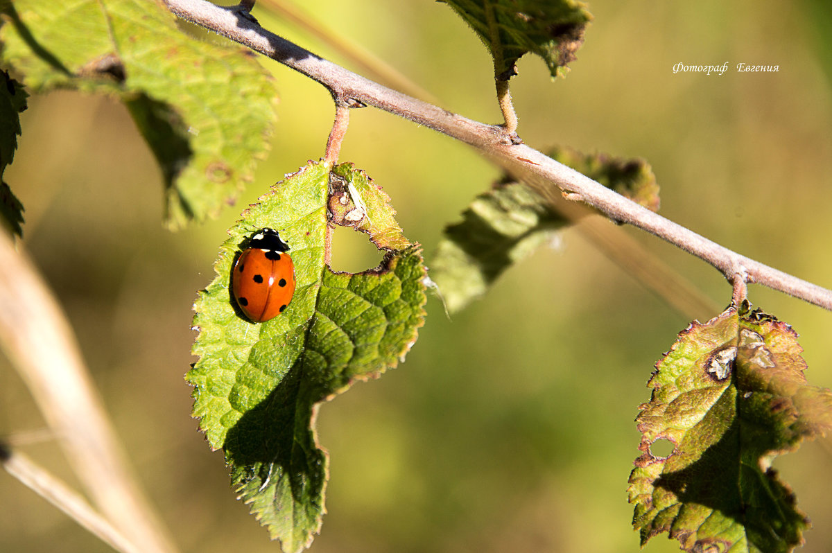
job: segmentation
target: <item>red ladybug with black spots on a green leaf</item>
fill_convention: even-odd
[[[243,314],[255,323],[275,318],[295,294],[295,264],[286,244],[274,229],[251,236],[234,264],[231,290]]]

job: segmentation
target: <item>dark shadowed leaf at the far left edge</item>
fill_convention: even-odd
[[[0,220],[18,236],[23,233],[23,205],[2,180],[2,175],[17,150],[17,136],[21,134],[20,113],[26,110],[28,96],[19,82],[7,72],[0,71]]]

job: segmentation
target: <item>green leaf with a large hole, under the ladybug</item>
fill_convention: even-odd
[[[330,178],[367,181],[351,164],[333,172],[310,163],[247,210],[194,307],[199,361],[186,377],[194,416],[210,446],[225,450],[240,497],[287,552],[309,546],[324,514],[329,460],[315,437],[319,403],[394,368],[424,318],[418,245],[389,251],[359,274],[325,264]],[[368,212],[373,220],[392,216],[380,204]],[[265,226],[290,244],[297,288],[282,314],[251,323],[235,312],[230,271],[241,245]]]

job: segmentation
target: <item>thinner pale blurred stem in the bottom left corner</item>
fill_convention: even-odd
[[[117,531],[76,491],[56,476],[39,467],[32,459],[0,443],[0,464],[24,486],[65,512],[93,536],[123,553],[141,553],[130,540]]]

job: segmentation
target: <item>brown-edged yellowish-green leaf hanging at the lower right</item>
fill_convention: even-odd
[[[661,532],[685,551],[792,551],[809,521],[771,470],[828,432],[832,394],[809,386],[797,333],[744,304],[691,323],[656,363],[636,422],[630,476],[641,543]],[[651,452],[656,442],[672,452]]]

